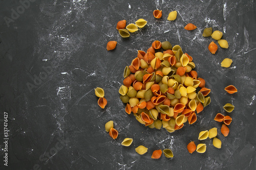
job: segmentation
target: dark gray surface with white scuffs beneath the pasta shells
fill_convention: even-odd
[[[1,116],[9,113],[9,169],[256,169],[255,1],[37,0],[8,27],[4,17],[19,6],[18,1],[0,1],[0,101]],[[155,9],[163,10],[161,19],[153,17]],[[177,19],[167,21],[173,10]],[[147,26],[122,39],[117,21],[139,18],[147,20]],[[198,29],[184,30],[189,22]],[[219,47],[211,55],[208,44],[213,39],[201,36],[205,27],[222,31],[229,48]],[[118,44],[108,52],[110,40]],[[179,44],[211,89],[211,104],[198,114],[198,121],[172,134],[139,124],[119,100],[124,67],[154,40]],[[230,68],[220,66],[224,58],[233,60]],[[27,84],[33,84],[32,77],[44,67],[49,71],[41,75],[45,80],[30,92]],[[230,84],[237,93],[224,91]],[[97,105],[97,86],[105,90],[105,109]],[[226,103],[235,106],[230,114],[223,110]],[[233,118],[227,137],[220,133],[222,124],[213,120],[219,112]],[[116,140],[104,130],[109,120],[119,131]],[[2,140],[3,122],[0,125]],[[202,141],[207,144],[204,154],[189,154],[187,143],[200,143],[199,132],[213,127],[218,128],[222,149],[207,139]],[[125,137],[134,139],[130,147],[120,144]],[[141,144],[148,148],[142,156],[135,152]],[[165,148],[173,150],[173,159],[151,159],[154,150]]]

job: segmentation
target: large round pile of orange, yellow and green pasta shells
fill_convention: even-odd
[[[210,89],[198,78],[195,66],[191,56],[168,41],[156,40],[146,52],[139,50],[125,67],[119,88],[125,112],[149,128],[165,128],[170,133],[186,122],[194,124],[211,101]]]

